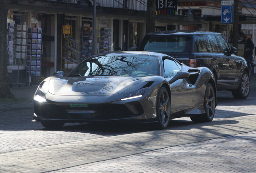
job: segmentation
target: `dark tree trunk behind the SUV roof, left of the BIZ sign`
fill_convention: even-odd
[[[148,0],[147,2],[146,34],[155,32],[155,3],[156,0]]]

